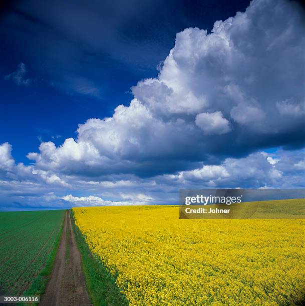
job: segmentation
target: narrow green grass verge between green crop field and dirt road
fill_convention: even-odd
[[[66,213],[64,213],[62,224],[57,234],[54,248],[49,255],[49,258],[47,260],[45,267],[41,270],[39,275],[34,279],[31,287],[28,290],[24,291],[22,295],[25,295],[25,296],[40,295],[42,296],[45,293],[48,281],[50,279],[50,275],[53,270],[53,265],[54,265],[55,257],[56,257],[56,254],[59,248],[59,244],[62,238],[65,216],[66,216]],[[39,305],[39,303],[19,303],[18,305],[29,306],[29,305]]]

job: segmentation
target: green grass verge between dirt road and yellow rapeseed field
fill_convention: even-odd
[[[82,269],[91,302],[95,306],[128,305],[125,295],[116,285],[116,277],[113,277],[103,262],[96,255],[92,254],[85,237],[74,222],[72,210],[70,213],[76,243],[81,253]]]

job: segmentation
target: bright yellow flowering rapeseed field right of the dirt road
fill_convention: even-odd
[[[131,305],[304,301],[305,220],[187,220],[177,206],[73,208]]]

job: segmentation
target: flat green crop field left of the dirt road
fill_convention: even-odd
[[[0,294],[21,294],[58,243],[66,210],[0,212]]]

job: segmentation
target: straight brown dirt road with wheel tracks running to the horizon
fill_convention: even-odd
[[[66,213],[63,235],[55,258],[51,278],[45,294],[42,296],[40,305],[91,305],[69,211]]]

